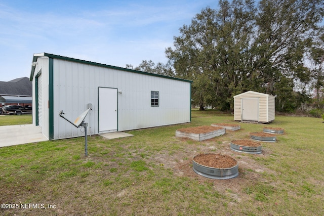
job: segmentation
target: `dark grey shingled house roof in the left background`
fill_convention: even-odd
[[[0,95],[32,96],[32,82],[28,77],[21,77],[8,82],[0,81]]]

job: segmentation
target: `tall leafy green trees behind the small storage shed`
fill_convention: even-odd
[[[275,95],[276,111],[322,112],[323,16],[322,0],[220,0],[179,29],[167,64],[134,69],[193,80],[200,109],[232,111],[233,96],[251,90]]]

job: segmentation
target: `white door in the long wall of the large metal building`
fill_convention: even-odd
[[[117,89],[99,87],[99,133],[117,131]]]

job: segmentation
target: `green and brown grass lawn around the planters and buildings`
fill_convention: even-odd
[[[0,148],[0,203],[18,204],[0,214],[324,215],[322,119],[276,116],[268,125],[236,123],[239,131],[203,142],[175,137],[178,128],[221,122],[234,123],[233,115],[194,110],[191,123],[114,140],[92,136],[87,158],[84,137]],[[262,143],[262,154],[230,150],[231,140],[266,126],[285,134]],[[238,177],[195,174],[192,157],[199,153],[235,158]],[[23,208],[26,203],[39,208]]]

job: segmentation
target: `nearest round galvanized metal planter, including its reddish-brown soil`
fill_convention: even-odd
[[[231,179],[238,176],[238,162],[222,154],[198,154],[193,157],[196,174],[210,179]]]

